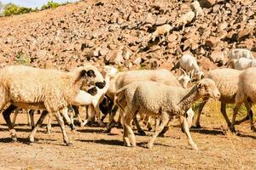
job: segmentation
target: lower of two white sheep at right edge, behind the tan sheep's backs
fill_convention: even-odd
[[[234,65],[236,70],[245,70],[249,67],[256,67],[256,59],[240,58],[236,62],[232,60],[231,64]]]

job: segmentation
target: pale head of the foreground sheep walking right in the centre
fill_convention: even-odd
[[[196,84],[198,93],[201,97],[209,97],[213,99],[219,99],[220,93],[218,88],[211,79],[205,78]]]

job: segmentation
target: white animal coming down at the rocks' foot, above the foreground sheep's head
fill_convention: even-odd
[[[191,77],[194,76],[194,73],[198,76],[199,80],[204,76],[204,72],[201,71],[201,67],[197,65],[195,57],[191,54],[183,54],[181,59],[179,59],[179,65],[186,72],[190,72]]]

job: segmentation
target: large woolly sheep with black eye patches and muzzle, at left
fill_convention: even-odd
[[[34,142],[34,134],[45,116],[50,113],[61,125],[65,144],[72,144],[67,138],[60,112],[73,103],[80,89],[86,90],[90,84],[99,88],[105,86],[102,75],[93,65],[84,65],[70,72],[25,65],[11,65],[0,69],[0,111],[3,111],[5,105],[13,105],[3,111],[12,139],[16,140],[16,134],[9,115],[19,107],[44,110],[29,136],[31,142]]]

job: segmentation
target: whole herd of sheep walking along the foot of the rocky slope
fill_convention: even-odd
[[[146,117],[148,123],[152,117],[155,119],[155,128],[148,148],[153,146],[154,139],[159,134],[168,130],[169,123],[176,117],[180,120],[189,144],[194,150],[198,150],[189,133],[194,116],[191,107],[198,99],[202,99],[202,102],[195,122],[196,127],[201,127],[201,111],[207,100],[212,98],[221,102],[221,113],[230,130],[235,131],[236,124],[249,119],[251,128],[255,131],[252,111],[252,105],[256,101],[256,68],[253,68],[255,59],[249,50],[243,48],[230,51],[229,59],[228,65],[234,66],[235,69],[223,68],[204,73],[194,56],[184,54],[178,62],[183,71],[180,77],[175,77],[166,69],[122,72],[109,65],[102,68],[102,73],[90,64],[72,71],[24,65],[6,66],[0,69],[0,111],[3,111],[3,118],[12,139],[17,140],[15,121],[11,121],[10,114],[15,112],[17,116],[19,109],[30,110],[30,142],[34,142],[34,135],[46,116],[49,117],[47,126],[50,132],[51,116],[55,116],[67,145],[72,143],[67,137],[63,117],[67,124],[75,129],[75,115],[79,117],[81,126],[95,116],[99,125],[104,126],[101,112],[104,117],[109,113],[107,128],[111,128],[113,117],[119,110],[124,128],[123,140],[127,146],[136,145],[131,128],[132,121],[137,126],[138,133],[145,134],[137,115],[139,114],[141,119]],[[243,63],[247,60],[250,60],[250,64]],[[191,88],[187,88],[192,80],[198,81]],[[243,103],[247,108],[247,116],[236,121],[237,111]],[[226,104],[236,104],[231,122],[225,111]],[[87,108],[88,117],[84,121],[79,116],[79,106]],[[73,114],[69,115],[68,109],[72,109]],[[42,111],[36,124],[33,123],[34,110]]]

